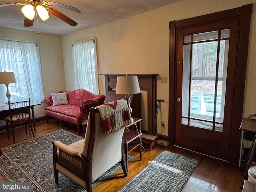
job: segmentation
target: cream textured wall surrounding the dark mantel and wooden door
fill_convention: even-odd
[[[169,78],[169,22],[182,20],[242,5],[256,0],[184,0],[136,16],[124,18],[79,32],[62,36],[64,68],[67,90],[73,89],[72,42],[89,37],[97,38],[99,74],[158,73],[157,99],[163,99],[158,112],[158,125],[166,122],[158,133],[168,135],[168,86],[161,83]],[[86,22],[86,21],[85,21]],[[253,6],[250,46],[244,100],[244,116],[256,113],[256,14]],[[104,77],[99,76],[100,94],[105,94]],[[157,125],[157,126],[158,126]]]

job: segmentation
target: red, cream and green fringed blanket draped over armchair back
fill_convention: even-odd
[[[108,102],[97,108],[106,134],[118,132],[132,122],[130,110],[124,99]]]

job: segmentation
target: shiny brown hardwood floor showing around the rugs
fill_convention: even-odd
[[[58,121],[50,120],[49,124],[45,122],[36,123],[35,137],[38,137],[49,132],[59,130],[60,124]],[[76,126],[64,127],[65,130],[76,133]],[[82,132],[82,129],[81,129]],[[26,135],[25,130],[19,129],[15,132],[16,143],[22,142],[33,138],[31,132]],[[12,138],[7,139],[7,134],[0,134],[0,146],[4,148],[13,144]],[[198,166],[194,170],[192,176],[188,180],[187,184],[183,188],[182,192],[241,192],[240,185],[242,182],[242,171],[238,169],[238,166],[210,158],[201,154],[197,154],[182,148],[174,146],[160,146],[157,145],[152,151],[142,152],[142,161],[138,150],[134,150],[129,154],[134,156],[134,160],[129,163],[129,175],[123,177],[122,169],[112,174],[108,180],[102,181],[100,184],[93,188],[94,192],[116,192],[124,186],[129,180],[131,180],[136,174],[138,174],[143,168],[145,168],[150,161],[154,160],[163,150],[168,150],[189,158],[193,158],[199,161]],[[0,159],[1,162],[1,159]],[[0,181],[5,181],[0,174]]]

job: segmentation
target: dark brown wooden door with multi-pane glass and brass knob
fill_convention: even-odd
[[[227,160],[238,20],[177,34],[175,143]]]

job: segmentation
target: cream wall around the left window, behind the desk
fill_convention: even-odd
[[[37,32],[0,27],[0,38],[37,42],[40,50],[44,96],[66,89],[61,36],[45,33],[38,35]],[[46,103],[42,102],[40,106],[34,107],[36,118],[45,116],[45,106]]]

